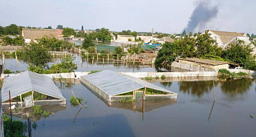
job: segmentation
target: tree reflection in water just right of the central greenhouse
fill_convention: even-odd
[[[215,86],[218,83],[215,83]],[[201,97],[204,92],[210,92],[213,89],[213,81],[183,81],[179,82],[180,92],[197,95]]]

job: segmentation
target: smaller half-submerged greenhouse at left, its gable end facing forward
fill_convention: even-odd
[[[31,107],[33,105],[66,104],[66,99],[51,77],[25,71],[4,79],[1,101],[7,106]],[[8,107],[8,106],[7,106]]]

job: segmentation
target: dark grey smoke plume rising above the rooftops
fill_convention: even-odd
[[[188,25],[186,25],[184,30],[187,33],[195,31],[198,25],[204,25],[209,22],[210,19],[215,18],[218,14],[218,10],[218,7],[209,7],[205,1],[201,1],[198,6],[195,7],[195,10],[189,18]]]

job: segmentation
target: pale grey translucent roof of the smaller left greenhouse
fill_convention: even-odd
[[[7,101],[30,91],[40,92],[43,95],[52,96],[65,100],[61,91],[53,83],[51,77],[37,74],[31,71],[25,71],[12,77],[4,79],[4,85],[1,89],[1,101]]]

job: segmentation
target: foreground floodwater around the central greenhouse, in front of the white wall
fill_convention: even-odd
[[[80,83],[56,83],[67,106],[36,121],[33,136],[256,136],[255,80],[155,82],[177,101],[116,103],[108,106]],[[216,92],[216,101],[213,101]],[[87,99],[70,105],[71,90]],[[53,111],[53,110],[51,110]],[[76,119],[74,120],[74,118]],[[33,122],[32,122],[33,123]]]

